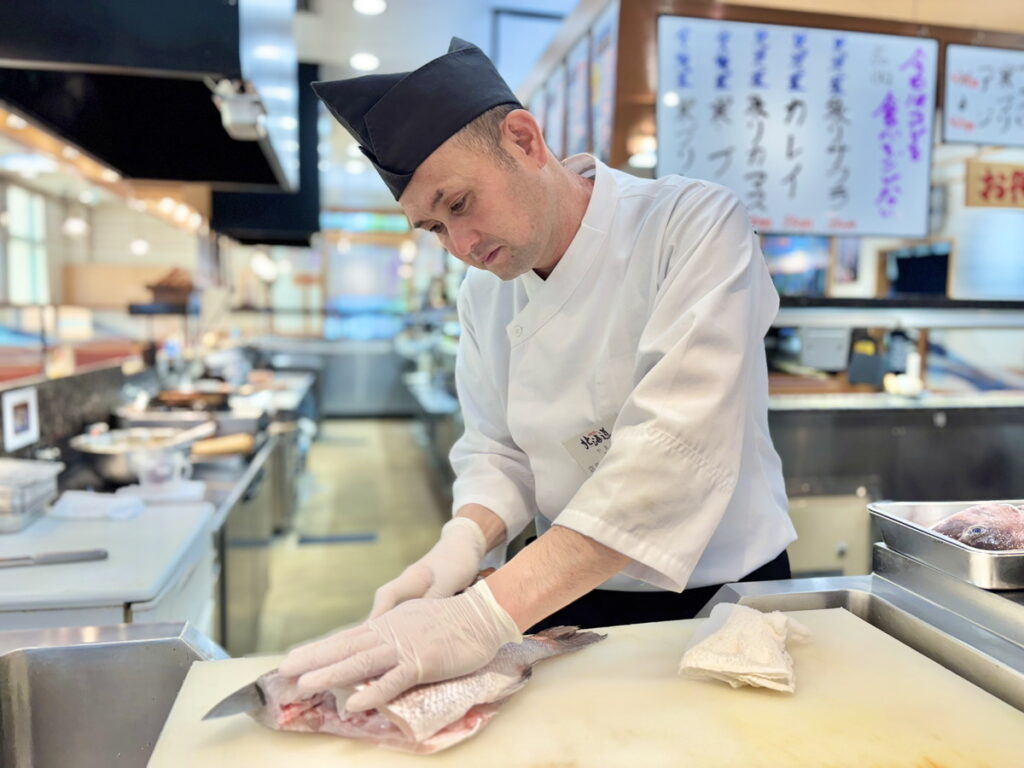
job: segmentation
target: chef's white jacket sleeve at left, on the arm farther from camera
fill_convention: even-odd
[[[459,292],[462,335],[455,378],[465,431],[449,457],[456,474],[453,508],[482,504],[504,520],[511,540],[534,519],[534,475],[509,434],[507,390],[498,385],[496,366],[480,352],[467,288]]]

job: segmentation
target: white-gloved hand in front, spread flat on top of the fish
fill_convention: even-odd
[[[291,651],[278,671],[301,676],[302,693],[348,688],[381,676],[345,702],[349,712],[381,707],[420,683],[483,667],[522,634],[486,582],[461,595],[409,600],[377,618]]]

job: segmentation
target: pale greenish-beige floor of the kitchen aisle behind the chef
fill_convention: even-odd
[[[260,652],[361,621],[374,590],[433,545],[449,514],[412,421],[326,421],[307,470],[294,530],[271,552]]]

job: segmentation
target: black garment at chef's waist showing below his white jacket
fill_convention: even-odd
[[[790,557],[783,550],[774,560],[751,571],[739,581],[770,582],[790,578]],[[538,622],[527,630],[526,634],[540,632],[549,627],[570,626],[587,629],[692,618],[722,586],[717,584],[696,587],[683,592],[594,590]]]

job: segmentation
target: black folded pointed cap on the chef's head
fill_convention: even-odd
[[[499,104],[521,106],[483,51],[457,37],[447,53],[414,72],[312,86],[395,200],[420,163],[463,126]]]

